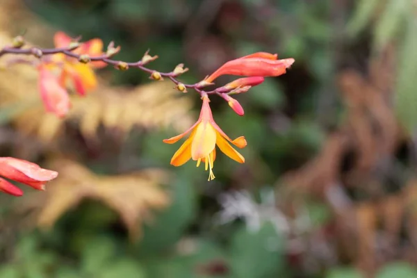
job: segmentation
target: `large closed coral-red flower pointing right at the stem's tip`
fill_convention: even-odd
[[[224,74],[237,76],[279,76],[286,73],[286,69],[294,63],[293,58],[277,60],[277,54],[257,52],[224,63],[218,70],[213,72],[204,81],[212,83]]]

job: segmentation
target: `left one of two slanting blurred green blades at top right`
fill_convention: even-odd
[[[377,5],[382,0],[359,0],[358,2],[354,15],[347,24],[347,33],[350,35],[357,35],[369,24]]]

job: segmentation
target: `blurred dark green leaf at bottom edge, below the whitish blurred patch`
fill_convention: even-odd
[[[235,277],[279,277],[284,263],[284,240],[267,222],[259,231],[241,227],[231,242],[231,270]]]

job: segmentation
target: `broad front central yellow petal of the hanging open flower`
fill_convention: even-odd
[[[191,157],[193,160],[208,156],[215,148],[216,132],[213,126],[207,122],[200,122],[195,129],[193,144],[191,145]]]

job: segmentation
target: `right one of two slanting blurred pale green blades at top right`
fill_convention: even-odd
[[[413,8],[411,5],[410,0],[388,1],[375,26],[375,49],[383,49],[398,34],[398,31],[402,29],[404,18],[407,18],[409,10]]]

